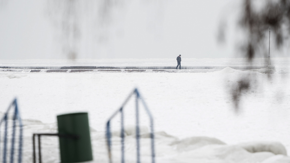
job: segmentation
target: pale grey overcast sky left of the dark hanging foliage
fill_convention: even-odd
[[[238,50],[233,36],[240,0],[75,1],[71,17],[65,1],[6,2],[0,6],[0,59],[66,59],[68,51],[77,59],[224,58]],[[217,41],[221,20],[227,22],[223,45]]]

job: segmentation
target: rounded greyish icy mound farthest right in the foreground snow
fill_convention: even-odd
[[[280,142],[248,142],[238,144],[238,146],[249,152],[272,152],[276,155],[287,155],[286,148]]]

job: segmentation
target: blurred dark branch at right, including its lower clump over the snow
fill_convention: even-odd
[[[271,34],[274,34],[276,47],[281,48],[284,40],[290,35],[290,1],[259,1],[260,6],[255,6],[257,4],[254,2],[257,1],[253,0],[243,0],[242,2],[242,14],[238,25],[244,30],[246,36],[246,42],[241,45],[244,57],[251,61],[252,58],[261,54],[259,50],[265,47],[265,39],[269,38],[269,28],[271,28]],[[257,81],[253,79],[255,77],[255,75],[243,77],[238,84],[232,86],[231,95],[236,112],[240,110],[240,97],[253,88],[252,85],[255,85]]]

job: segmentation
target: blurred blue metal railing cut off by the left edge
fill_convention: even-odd
[[[3,163],[6,163],[7,161],[6,156],[7,156],[7,141],[8,141],[8,136],[7,136],[8,135],[8,113],[13,106],[14,106],[14,113],[13,113],[13,126],[12,126],[11,148],[10,148],[10,163],[14,162],[16,122],[18,122],[19,124],[18,163],[21,163],[22,161],[22,144],[23,144],[23,128],[22,127],[23,125],[21,122],[21,117],[19,114],[18,106],[17,106],[17,99],[15,98],[13,102],[9,105],[6,113],[4,114],[3,118],[0,121],[0,127],[3,122],[5,123],[4,144],[3,144]]]

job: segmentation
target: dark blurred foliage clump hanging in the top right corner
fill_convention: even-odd
[[[247,32],[247,44],[243,49],[249,59],[255,57],[263,46],[269,28],[276,36],[276,46],[280,48],[284,37],[290,35],[290,1],[265,1],[262,9],[255,10],[252,0],[244,0],[239,24]],[[287,32],[283,33],[283,25],[287,26]]]

